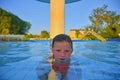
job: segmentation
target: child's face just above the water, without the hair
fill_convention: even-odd
[[[52,53],[54,54],[55,59],[64,61],[70,58],[70,55],[72,54],[71,44],[66,41],[55,42]]]

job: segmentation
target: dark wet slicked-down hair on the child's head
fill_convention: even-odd
[[[66,35],[66,34],[58,34],[58,35],[56,35],[56,36],[53,38],[53,40],[52,40],[52,48],[54,47],[54,43],[55,43],[55,42],[63,42],[63,41],[66,41],[66,42],[70,43],[71,48],[72,48],[72,50],[73,50],[72,40],[71,40],[71,38],[70,38],[68,35]]]

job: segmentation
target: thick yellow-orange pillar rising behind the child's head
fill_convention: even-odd
[[[50,0],[50,38],[64,34],[65,0]]]

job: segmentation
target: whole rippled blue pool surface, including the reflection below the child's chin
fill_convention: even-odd
[[[120,42],[73,45],[70,62],[62,65],[46,59],[49,41],[0,42],[0,80],[120,80]]]

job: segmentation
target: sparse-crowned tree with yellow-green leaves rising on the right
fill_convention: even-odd
[[[120,15],[114,11],[107,10],[107,5],[94,9],[89,16],[92,25],[89,27],[93,31],[106,38],[118,38],[120,33]]]

